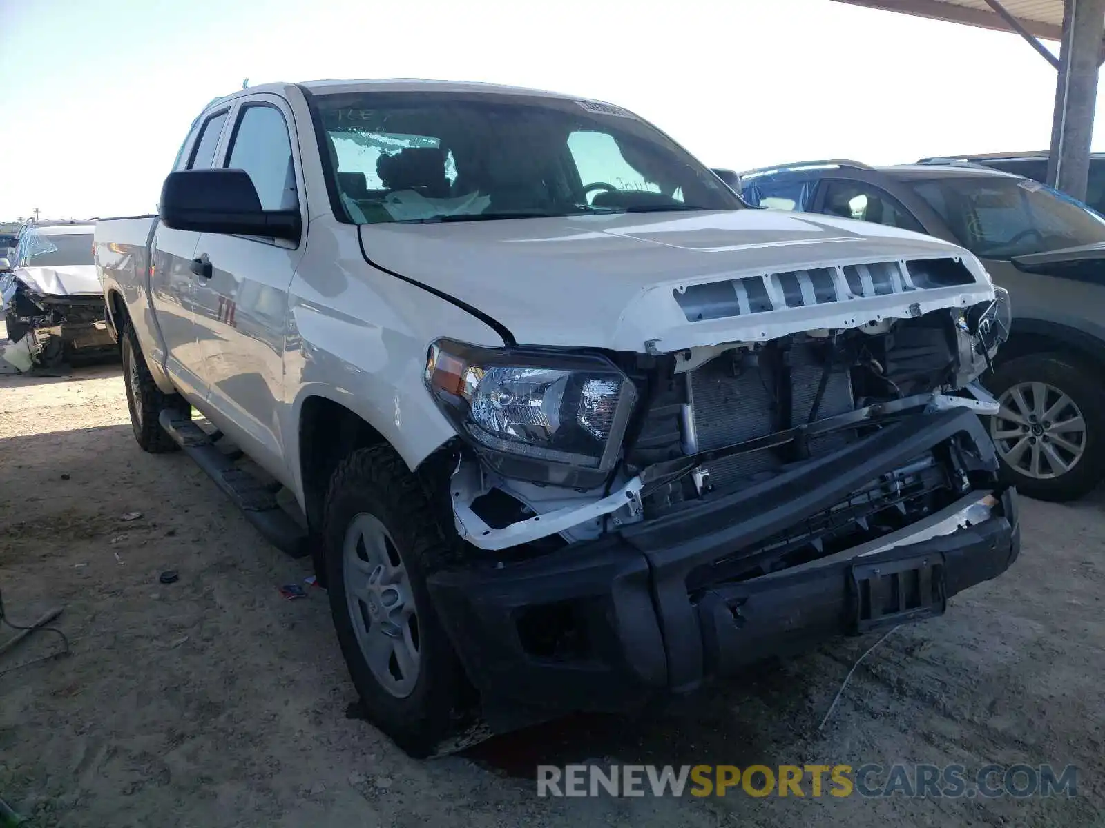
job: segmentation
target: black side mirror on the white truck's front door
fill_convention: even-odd
[[[299,241],[297,210],[262,210],[261,198],[244,170],[170,172],[158,210],[170,230],[266,236]]]

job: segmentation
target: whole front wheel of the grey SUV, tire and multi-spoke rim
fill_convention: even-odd
[[[1018,357],[987,381],[1001,411],[990,436],[1018,491],[1040,500],[1082,497],[1102,478],[1105,391],[1101,372],[1059,353]]]

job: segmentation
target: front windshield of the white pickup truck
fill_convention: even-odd
[[[330,183],[357,224],[745,206],[654,127],[606,104],[455,93],[316,100]]]

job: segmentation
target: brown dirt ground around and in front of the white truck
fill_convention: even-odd
[[[31,826],[1105,825],[1105,495],[1023,501],[1021,559],[898,629],[749,672],[648,721],[572,720],[407,758],[364,721],[307,564],[182,455],[135,444],[117,367],[0,378],[0,797]],[[138,512],[134,520],[122,516]],[[179,581],[158,575],[177,570]],[[0,641],[10,630],[0,630]],[[538,762],[1050,762],[1078,796],[539,799]]]

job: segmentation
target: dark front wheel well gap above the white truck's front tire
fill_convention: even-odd
[[[325,396],[304,401],[299,412],[299,474],[312,533],[323,524],[323,506],[334,469],[356,449],[380,443],[387,443],[383,435],[340,403]]]

